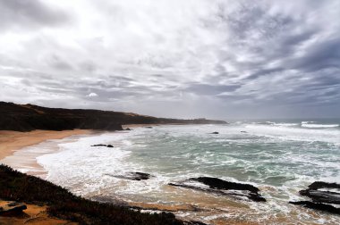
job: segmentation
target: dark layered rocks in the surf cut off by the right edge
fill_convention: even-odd
[[[323,190],[319,190],[323,189]],[[324,190],[326,189],[326,190]],[[327,183],[323,181],[316,181],[310,184],[308,189],[299,191],[300,195],[308,196],[310,201],[290,202],[290,204],[301,204],[310,209],[321,210],[325,212],[332,212],[340,214],[340,208],[331,204],[340,204],[340,185],[336,183]]]

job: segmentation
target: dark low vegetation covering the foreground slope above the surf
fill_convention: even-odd
[[[46,204],[51,216],[81,224],[188,224],[176,220],[172,213],[141,213],[74,196],[63,187],[14,171],[4,164],[0,165],[0,198]]]

